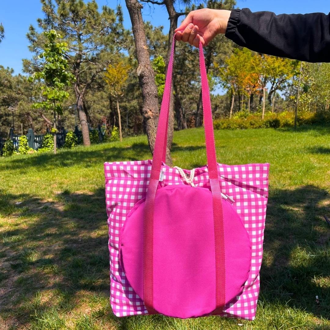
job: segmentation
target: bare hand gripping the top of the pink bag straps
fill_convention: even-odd
[[[226,32],[230,13],[230,10],[209,8],[193,10],[175,29],[175,38],[195,47],[199,41],[207,45],[217,34]]]

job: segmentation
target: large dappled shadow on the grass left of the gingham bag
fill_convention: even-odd
[[[64,192],[54,202],[0,194],[0,215],[14,219],[0,234],[0,316],[25,324],[54,307],[60,312],[80,308],[80,295],[103,297],[109,305],[104,195],[103,187],[94,193]],[[17,200],[23,202],[16,205]],[[49,303],[36,305],[38,295]],[[118,324],[110,307],[100,311]]]

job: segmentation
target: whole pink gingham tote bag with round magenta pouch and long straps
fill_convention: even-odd
[[[269,164],[223,165],[199,45],[207,166],[165,164],[174,59],[152,160],[105,163],[110,301],[116,316],[253,320],[259,294]]]

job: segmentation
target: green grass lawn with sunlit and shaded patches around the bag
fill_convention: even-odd
[[[220,163],[271,164],[253,322],[112,313],[103,162],[149,159],[139,136],[0,159],[0,329],[330,329],[330,128],[215,138]],[[174,142],[174,165],[206,163],[202,129],[175,132]]]

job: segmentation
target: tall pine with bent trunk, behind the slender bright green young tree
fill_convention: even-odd
[[[54,3],[55,2],[55,3]],[[129,32],[123,28],[120,6],[116,11],[107,6],[99,11],[95,0],[41,0],[45,18],[38,19],[39,28],[58,31],[67,42],[66,58],[75,75],[74,93],[79,121],[82,127],[83,144],[90,145],[88,122],[90,116],[85,104],[87,91],[103,77],[111,54],[126,47]],[[43,35],[30,26],[27,34],[30,50],[38,52]],[[25,68],[38,66],[38,59],[25,61]]]

